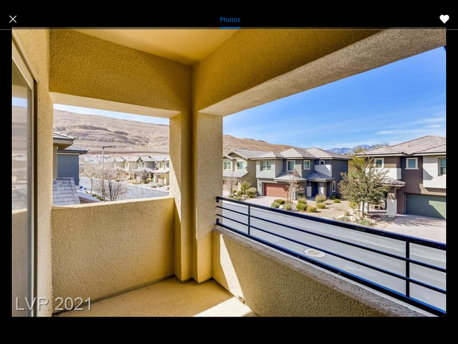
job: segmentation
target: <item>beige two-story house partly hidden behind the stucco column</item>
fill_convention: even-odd
[[[239,190],[243,182],[256,188],[256,161],[254,156],[266,154],[266,151],[253,149],[233,149],[223,155],[223,190]]]

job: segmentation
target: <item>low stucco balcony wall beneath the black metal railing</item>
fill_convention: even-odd
[[[421,315],[218,227],[213,232],[213,278],[261,317]]]

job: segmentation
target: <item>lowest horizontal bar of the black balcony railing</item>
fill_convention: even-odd
[[[224,223],[220,223],[219,222],[219,219],[216,219],[216,225],[217,226],[220,226],[222,228],[225,228],[227,229],[228,231],[232,231],[234,233],[237,233],[237,234],[240,234],[242,236],[245,236],[246,238],[249,238],[249,239],[252,239],[254,241],[257,241],[257,242],[261,242],[261,244],[264,244],[266,246],[269,246],[269,247],[272,247],[276,250],[279,250],[281,252],[284,252],[286,254],[289,254],[293,257],[296,257],[298,259],[301,259],[305,262],[309,262],[310,264],[314,264],[316,266],[319,266],[321,267],[322,269],[326,269],[330,272],[333,272],[334,274],[338,274],[339,276],[342,276],[342,277],[345,277],[345,278],[348,278],[349,280],[351,281],[354,281],[354,282],[357,282],[361,285],[365,285],[366,287],[369,287],[373,290],[377,290],[379,291],[380,293],[384,293],[385,295],[388,295],[388,296],[391,296],[391,297],[394,297],[396,298],[397,300],[401,300],[403,302],[406,302],[407,304],[409,305],[412,305],[412,306],[415,306],[419,309],[423,309],[424,311],[426,312],[430,312],[431,314],[434,314],[434,315],[438,315],[438,316],[445,316],[445,314],[447,314],[444,310],[442,309],[439,309],[437,307],[434,307],[434,306],[431,306],[431,305],[428,305],[424,302],[421,302],[419,300],[416,300],[412,297],[407,297],[406,295],[403,295],[401,293],[398,293],[397,291],[395,290],[392,290],[392,289],[389,289],[389,288],[386,288],[384,287],[383,285],[379,285],[377,283],[374,283],[374,282],[371,282],[369,280],[366,280],[365,278],[362,278],[362,277],[359,277],[359,276],[356,276],[354,274],[351,274],[347,271],[344,271],[344,270],[340,270],[338,268],[336,268],[335,266],[331,266],[329,264],[326,264],[326,263],[323,263],[323,262],[319,262],[318,260],[316,259],[312,259],[310,257],[307,257],[305,256],[304,254],[300,254],[300,253],[297,253],[295,251],[292,251],[292,250],[289,250],[287,249],[286,247],[281,247],[281,246],[278,246],[278,245],[275,245],[273,244],[272,242],[268,242],[266,240],[263,240],[261,238],[256,238],[252,235],[247,235],[247,233],[243,233],[242,231],[238,231],[237,229],[235,228],[232,228],[230,226],[227,226],[225,225]],[[246,226],[246,225],[245,225]]]

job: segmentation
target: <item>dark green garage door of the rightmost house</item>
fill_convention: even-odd
[[[406,197],[407,214],[445,219],[445,197],[411,194]]]

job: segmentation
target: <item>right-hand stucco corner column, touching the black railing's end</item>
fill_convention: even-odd
[[[211,278],[211,232],[216,223],[216,196],[223,192],[221,156],[223,117],[194,113],[194,216],[192,276],[197,282]]]

